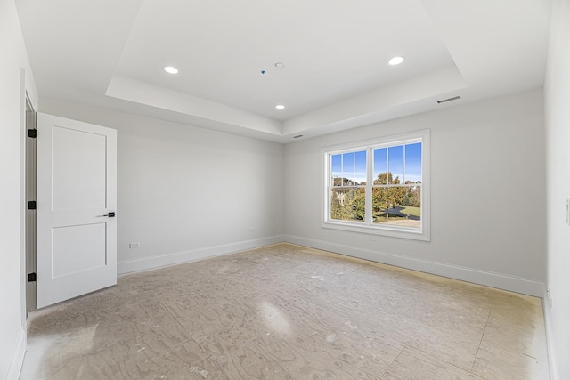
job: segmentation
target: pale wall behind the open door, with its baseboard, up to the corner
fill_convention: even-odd
[[[40,111],[118,130],[119,273],[281,241],[280,144],[51,99]]]

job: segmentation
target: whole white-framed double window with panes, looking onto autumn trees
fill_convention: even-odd
[[[322,150],[322,227],[429,240],[429,131]]]

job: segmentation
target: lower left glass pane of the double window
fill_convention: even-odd
[[[330,190],[330,219],[364,222],[366,190],[335,188]]]

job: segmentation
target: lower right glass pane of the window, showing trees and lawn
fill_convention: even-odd
[[[372,222],[421,227],[421,187],[372,188]]]

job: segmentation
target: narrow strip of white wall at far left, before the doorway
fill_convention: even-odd
[[[25,77],[33,83],[13,0],[0,0],[0,57],[0,378],[12,379],[20,373],[26,346]]]

